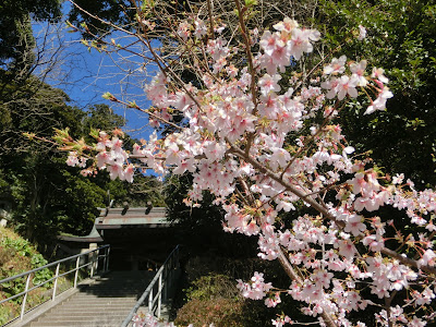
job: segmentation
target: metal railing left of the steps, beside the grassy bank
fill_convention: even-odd
[[[104,254],[100,255],[100,251],[104,251]],[[58,290],[58,279],[60,277],[66,276],[66,275],[71,274],[71,272],[74,272],[73,288],[76,288],[77,287],[77,279],[78,279],[78,271],[82,268],[89,267],[88,268],[89,269],[89,276],[93,277],[95,271],[98,271],[98,262],[100,259],[102,259],[102,271],[105,272],[105,271],[108,270],[108,268],[109,268],[109,253],[110,253],[110,245],[104,245],[104,246],[100,246],[98,249],[90,250],[90,251],[87,251],[87,252],[84,252],[84,253],[81,253],[81,254],[76,254],[76,255],[73,255],[73,256],[69,256],[69,257],[65,257],[63,259],[50,263],[50,264],[45,265],[45,266],[41,266],[39,268],[33,269],[33,270],[28,270],[28,271],[22,272],[20,275],[15,275],[15,276],[2,279],[2,280],[0,280],[0,287],[3,283],[13,281],[13,280],[15,280],[17,278],[27,277],[26,278],[26,286],[24,288],[24,291],[15,294],[13,296],[10,296],[8,299],[1,300],[0,304],[2,304],[4,302],[8,302],[8,301],[11,301],[11,300],[14,300],[14,299],[20,298],[20,296],[23,296],[23,302],[22,302],[22,305],[21,305],[21,313],[20,313],[20,319],[22,320],[24,314],[26,313],[27,294],[31,291],[33,291],[33,290],[35,290],[37,288],[40,288],[41,286],[44,286],[44,284],[46,284],[48,282],[55,281],[53,282],[52,294],[51,294],[51,300],[55,301],[55,299],[57,296],[57,290]],[[82,258],[85,258],[85,262],[86,262],[85,264],[81,264],[81,259]],[[60,274],[60,271],[59,271],[60,265],[63,264],[63,263],[70,262],[72,259],[75,259],[75,268]],[[41,283],[38,283],[36,286],[31,287],[31,282],[32,282],[32,279],[33,279],[32,276],[35,277],[35,272],[37,272],[39,270],[43,270],[43,269],[46,269],[46,268],[55,267],[55,266],[56,266],[55,277],[52,277],[52,278],[50,278],[50,279],[41,282]],[[32,308],[29,308],[29,310],[32,310]],[[19,318],[19,317],[15,317],[14,319],[10,320],[9,323],[15,320],[16,318]]]

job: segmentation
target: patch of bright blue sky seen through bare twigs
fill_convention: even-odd
[[[50,61],[58,61],[46,82],[63,89],[71,98],[71,106],[86,110],[95,104],[107,104],[126,119],[124,130],[130,135],[138,138],[148,136],[152,129],[146,114],[105,100],[101,95],[110,92],[120,99],[135,100],[142,108],[147,108],[150,104],[143,88],[149,76],[155,74],[156,66],[143,66],[140,58],[125,51],[111,55],[99,53],[96,49],[89,51],[81,43],[80,33],[68,33],[64,23],[34,23],[34,35],[38,46],[46,47],[46,56],[56,53],[55,60]],[[111,37],[122,45],[132,40],[119,33]],[[39,73],[45,68],[47,64],[40,68]]]

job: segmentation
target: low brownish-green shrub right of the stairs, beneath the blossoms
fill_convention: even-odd
[[[249,280],[254,271],[265,271],[275,287],[289,287],[289,277],[277,262],[258,258],[235,259],[223,256],[191,257],[185,265],[185,303],[178,311],[175,324],[186,326],[271,326],[271,319],[286,312],[299,322],[311,322],[301,314],[301,303],[287,294],[277,307],[268,308],[264,301],[243,299],[237,279]]]

